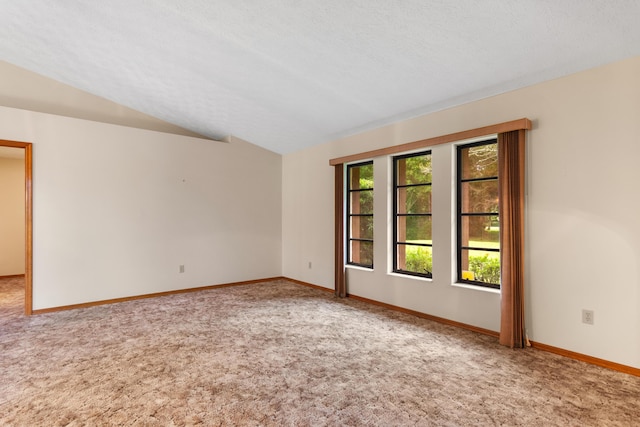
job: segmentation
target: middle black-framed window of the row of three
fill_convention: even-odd
[[[393,158],[393,271],[432,277],[431,151]]]

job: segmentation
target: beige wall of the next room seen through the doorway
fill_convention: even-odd
[[[0,276],[24,274],[24,230],[24,159],[0,157]]]

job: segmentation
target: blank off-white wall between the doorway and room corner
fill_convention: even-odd
[[[5,107],[0,139],[34,144],[36,310],[281,275],[278,154]]]

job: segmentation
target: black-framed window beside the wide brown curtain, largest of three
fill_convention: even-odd
[[[457,147],[458,282],[500,289],[498,144]]]

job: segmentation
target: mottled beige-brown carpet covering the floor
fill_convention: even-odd
[[[20,286],[0,425],[640,425],[638,377],[287,281],[32,317]]]

